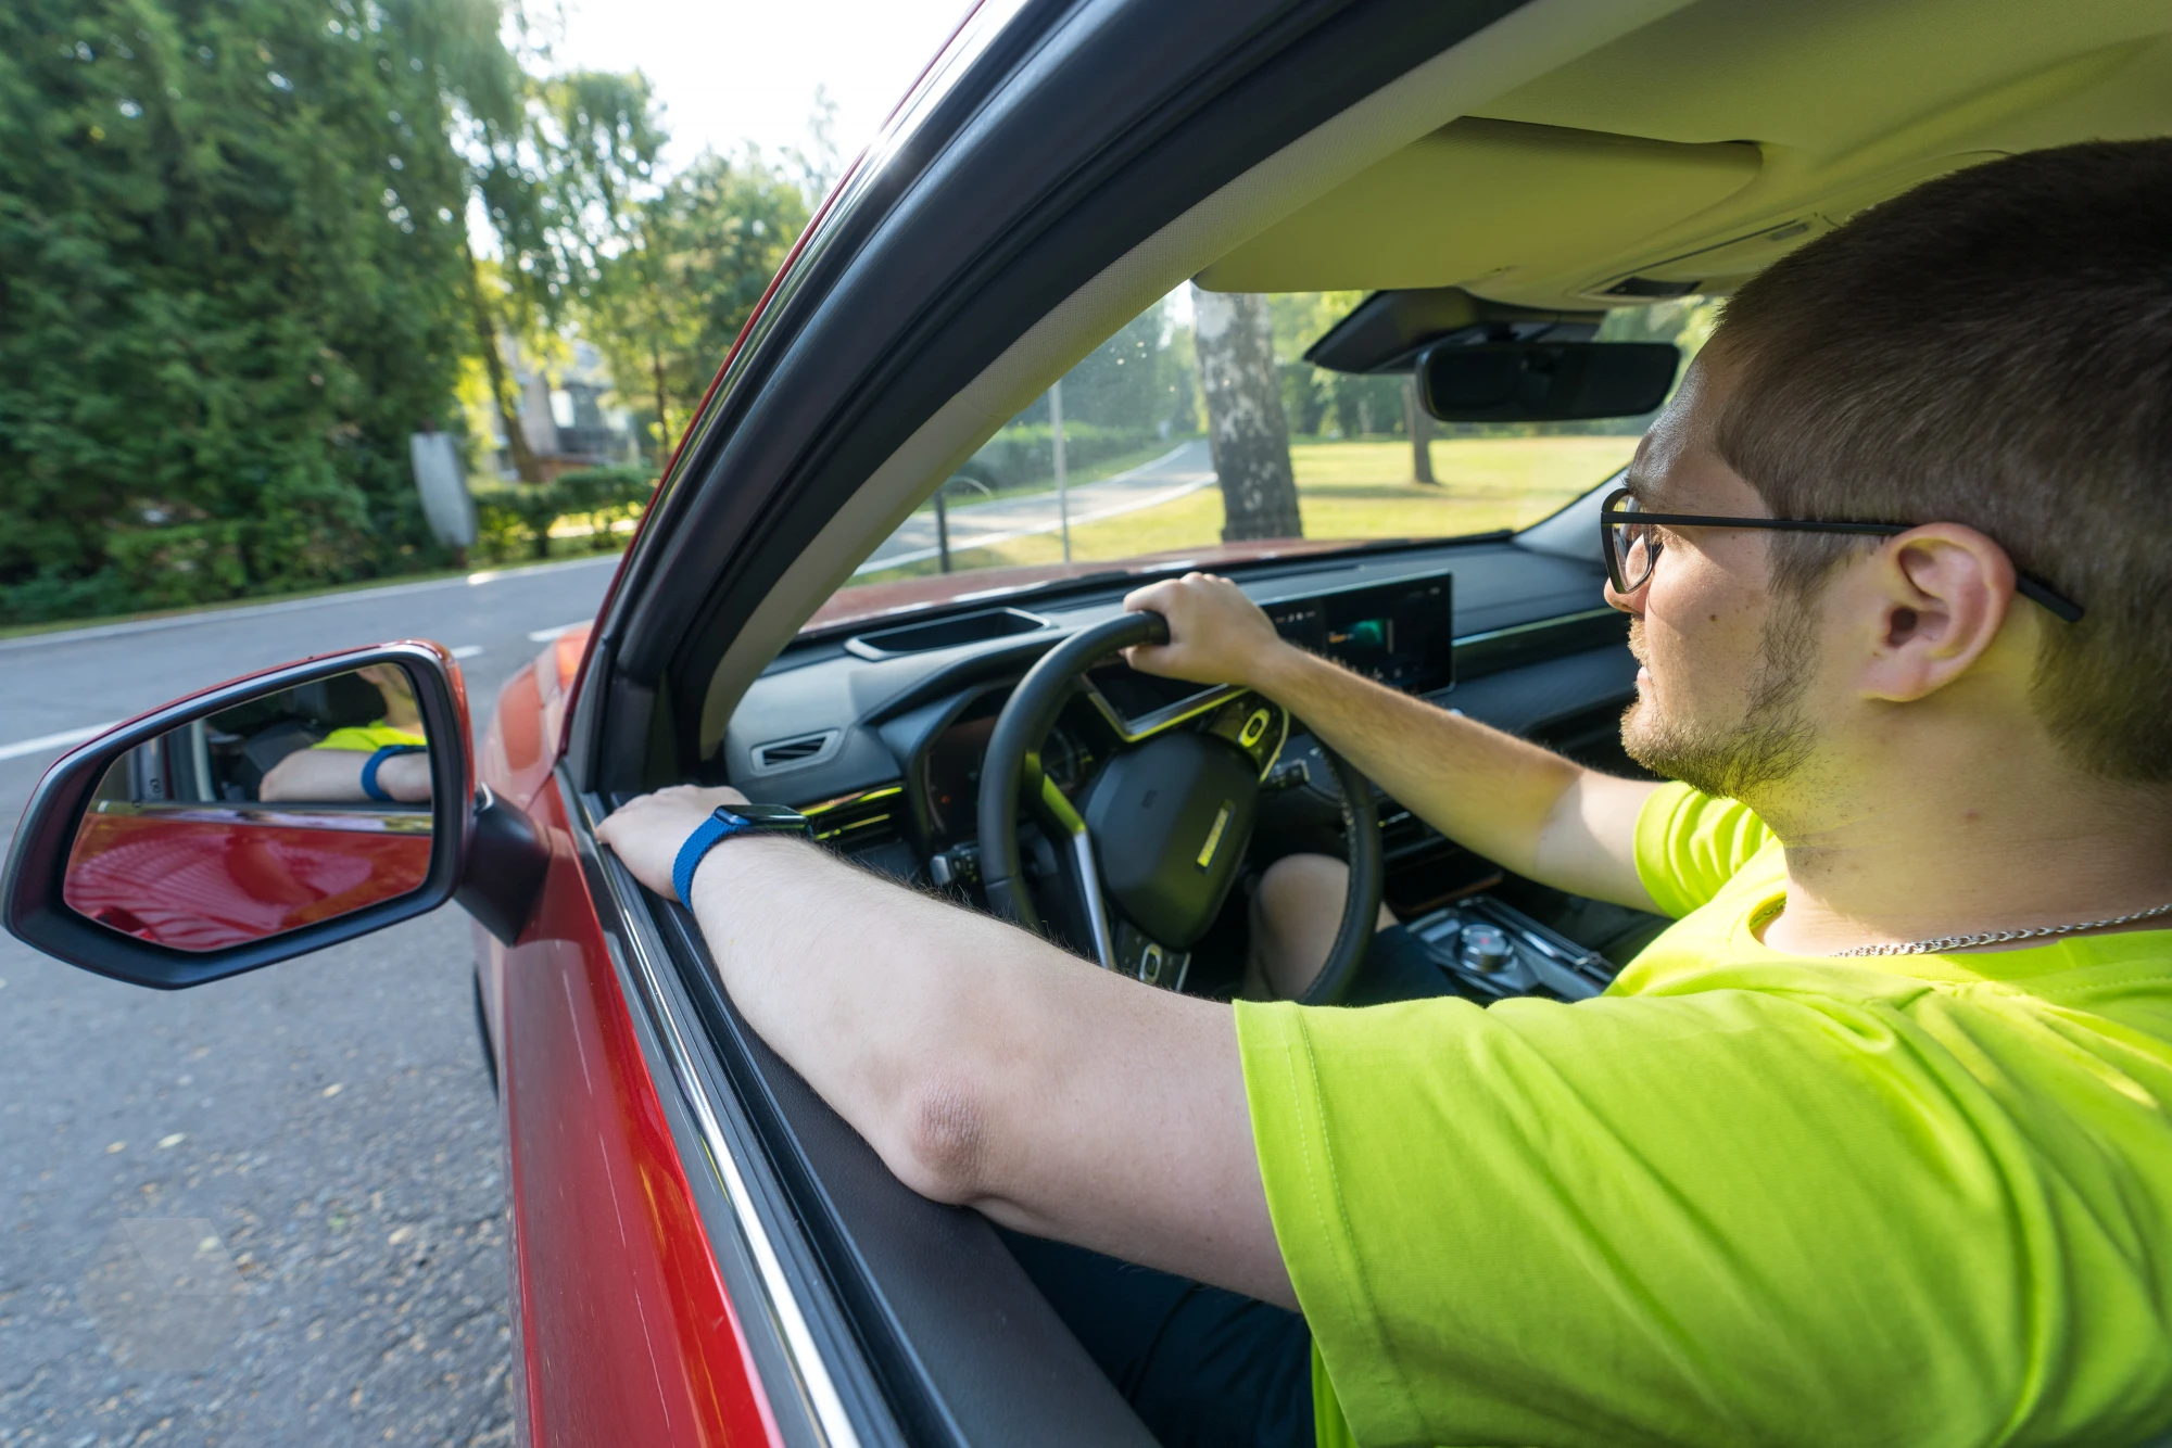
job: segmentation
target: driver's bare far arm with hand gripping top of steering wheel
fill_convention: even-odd
[[[1583,769],[1305,653],[1225,577],[1188,573],[1140,588],[1125,608],[1169,619],[1169,643],[1132,649],[1134,666],[1258,688],[1466,849],[1573,894],[1657,910],[1636,871],[1636,821],[1655,786]]]

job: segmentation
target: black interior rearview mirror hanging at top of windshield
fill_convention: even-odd
[[[1447,343],[1418,356],[1418,402],[1444,423],[1642,417],[1679,367],[1664,341]]]

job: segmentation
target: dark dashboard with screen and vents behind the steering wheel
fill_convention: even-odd
[[[1325,554],[1232,575],[1284,638],[1570,753],[1612,747],[1636,688],[1627,619],[1605,608],[1596,558],[1494,536]],[[969,886],[982,755],[1010,690],[1058,640],[1121,614],[1129,586],[1136,580],[1008,595],[804,638],[749,688],[710,777],[756,801],[806,810],[817,836],[871,868],[917,886]],[[1043,769],[1058,790],[1082,799],[1114,751],[1179,727],[1238,742],[1260,703],[1242,690],[1108,660],[1060,712]],[[1262,771],[1255,844],[1268,853],[1338,849],[1340,801],[1318,745],[1301,721],[1279,708],[1271,714],[1273,738],[1249,745]],[[1392,799],[1381,799],[1381,829],[1390,905],[1405,918],[1460,899],[1488,871],[1499,877],[1497,866],[1442,840]]]

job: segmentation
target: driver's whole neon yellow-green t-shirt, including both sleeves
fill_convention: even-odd
[[[1564,1005],[1240,1003],[1321,1444],[2131,1444],[2172,1422],[2172,931],[1792,957],[1779,844]]]

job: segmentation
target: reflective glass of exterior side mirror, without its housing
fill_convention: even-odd
[[[430,873],[430,740],[393,662],[265,693],[115,760],[61,899],[217,951],[352,914]]]

